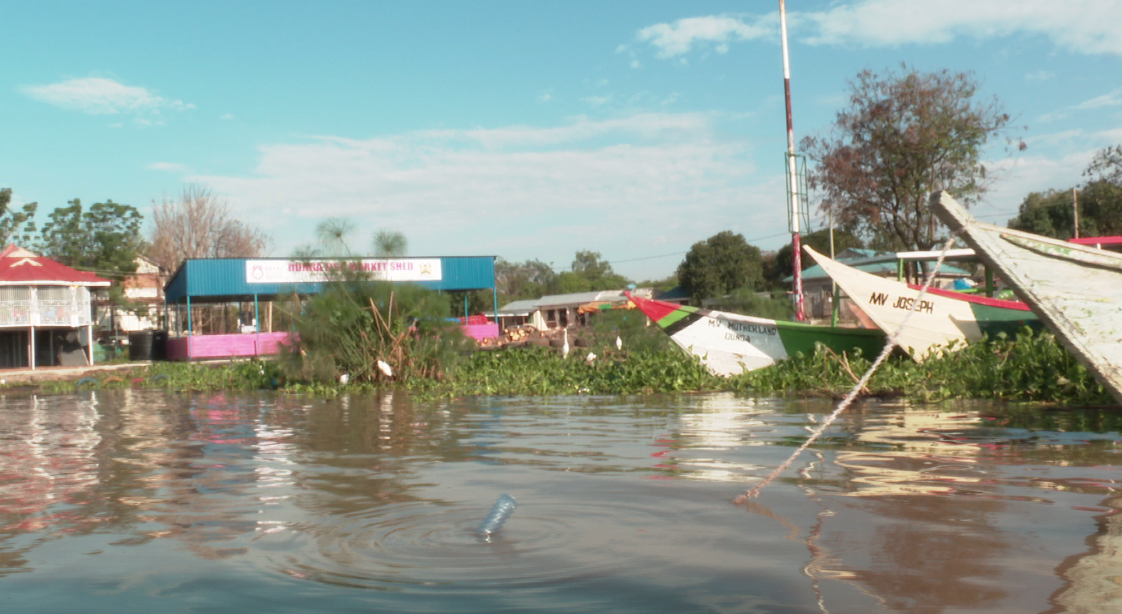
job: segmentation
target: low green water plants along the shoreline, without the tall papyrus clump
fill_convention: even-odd
[[[293,367],[285,359],[247,359],[220,365],[154,363],[77,382],[49,381],[8,387],[43,393],[127,387],[184,392],[274,390],[318,396],[394,390],[417,397],[736,392],[838,398],[849,392],[875,359],[820,349],[813,356],[798,355],[772,367],[723,378],[710,375],[697,358],[669,343],[659,347],[624,331],[610,332],[611,341],[597,335],[568,357],[562,357],[557,348],[536,346],[468,350],[447,372],[419,366],[414,375],[387,377],[379,372],[367,379],[347,377],[346,383],[338,378],[315,378],[316,369],[325,372],[322,366],[306,372],[312,374],[310,377],[294,378]],[[662,335],[656,330],[650,332]],[[622,350],[614,347],[616,335],[624,340]],[[632,345],[636,347],[628,349]],[[596,358],[588,360],[589,352]],[[301,368],[309,368],[309,359],[303,358]],[[1103,386],[1051,335],[1028,329],[1014,337],[1001,336],[957,351],[944,351],[923,364],[898,350],[881,365],[862,396],[914,402],[990,400],[1061,406],[1115,405]]]

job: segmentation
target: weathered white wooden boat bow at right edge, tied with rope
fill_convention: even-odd
[[[1122,254],[976,221],[946,192],[931,208],[1122,402]]]

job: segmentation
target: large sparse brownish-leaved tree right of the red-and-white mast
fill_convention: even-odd
[[[816,163],[808,180],[821,209],[880,249],[940,242],[928,196],[946,190],[967,207],[975,203],[987,187],[986,144],[1009,131],[1009,113],[996,99],[980,99],[978,89],[972,73],[907,65],[859,73],[831,134],[802,141]]]

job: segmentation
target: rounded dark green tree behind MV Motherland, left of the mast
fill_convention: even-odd
[[[710,299],[763,284],[763,256],[744,235],[725,230],[693,244],[678,265],[678,279],[691,299]]]

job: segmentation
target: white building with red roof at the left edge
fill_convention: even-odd
[[[90,288],[109,285],[15,245],[0,251],[0,368],[92,365]]]

